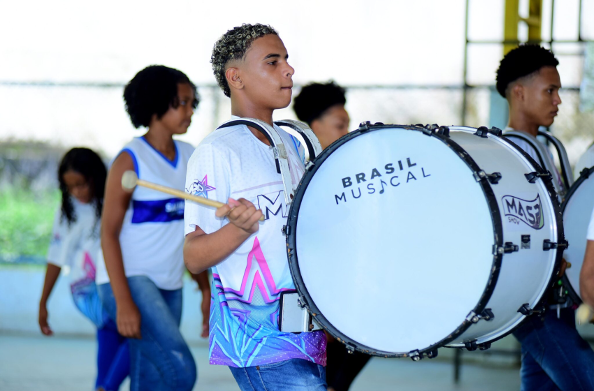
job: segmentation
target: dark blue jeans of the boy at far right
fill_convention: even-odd
[[[530,316],[514,336],[522,345],[521,391],[594,390],[594,351],[575,328],[575,311]]]

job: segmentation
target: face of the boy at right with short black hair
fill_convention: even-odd
[[[522,109],[526,115],[539,126],[551,126],[561,104],[559,89],[561,79],[557,68],[544,66],[537,74],[523,83],[525,91],[524,99],[521,102]]]

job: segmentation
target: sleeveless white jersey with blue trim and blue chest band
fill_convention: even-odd
[[[131,156],[139,179],[183,190],[194,147],[175,140],[175,149],[175,159],[170,161],[139,137],[133,138],[120,154]],[[126,276],[147,276],[161,289],[181,288],[184,200],[137,186],[124,216],[119,243]],[[96,283],[108,283],[103,253],[97,264]]]

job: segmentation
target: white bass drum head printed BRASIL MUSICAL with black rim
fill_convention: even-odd
[[[488,300],[498,209],[447,142],[418,128],[356,131],[314,160],[296,192],[296,286],[319,323],[361,351],[441,346]]]

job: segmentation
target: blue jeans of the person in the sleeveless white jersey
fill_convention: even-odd
[[[129,339],[131,391],[189,391],[196,383],[194,357],[180,333],[182,290],[157,288],[146,276],[128,277],[140,311],[142,339]],[[103,306],[116,318],[110,283],[99,287]]]

